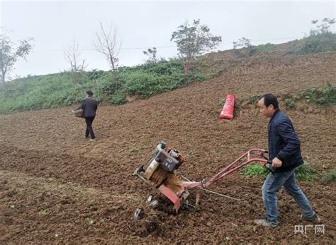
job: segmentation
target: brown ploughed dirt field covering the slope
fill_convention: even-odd
[[[335,183],[300,181],[325,225],[325,234],[310,228],[303,235],[294,234],[294,225],[308,223],[284,191],[279,193],[281,225],[255,227],[253,219],[264,215],[263,179],[239,173],[211,190],[240,201],[203,193],[200,210],[164,213],[147,237],[129,228],[135,209],[153,193],[132,173],[158,141],[186,157],[179,174],[208,178],[246,150],[267,148],[268,119],[255,104],[240,103],[243,98],[264,92],[294,95],[326,80],[336,82],[335,52],[231,63],[219,54],[213,59],[221,71],[218,78],[148,100],[99,107],[95,142],[84,139],[84,120],[70,107],[0,115],[0,243],[335,243]],[[218,119],[227,93],[240,103],[232,121]],[[304,102],[286,111],[304,159],[319,172],[335,169],[335,112],[335,106]]]

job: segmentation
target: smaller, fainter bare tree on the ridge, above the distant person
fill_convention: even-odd
[[[65,60],[70,64],[71,71],[79,72],[84,71],[88,64],[85,64],[86,60],[80,58],[79,44],[74,41],[69,45],[69,49],[65,52]]]

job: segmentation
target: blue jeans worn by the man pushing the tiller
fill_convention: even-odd
[[[308,199],[296,184],[294,169],[292,169],[287,172],[269,173],[262,185],[262,200],[266,208],[267,220],[274,225],[278,225],[277,193],[282,186],[284,186],[285,191],[289,195],[293,196],[296,204],[301,208],[304,217],[315,217],[315,212],[311,208]]]

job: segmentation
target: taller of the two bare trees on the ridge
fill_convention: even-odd
[[[100,25],[101,30],[100,33],[96,33],[97,42],[94,43],[94,47],[98,52],[106,56],[108,64],[111,66],[111,70],[116,71],[118,66],[118,54],[121,49],[121,41],[117,41],[116,28],[113,28],[112,23],[108,32],[103,28],[101,22]]]

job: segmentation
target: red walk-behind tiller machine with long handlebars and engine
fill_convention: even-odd
[[[160,193],[169,198],[174,203],[174,209],[178,212],[181,205],[186,202],[189,196],[189,189],[201,188],[211,186],[223,177],[232,174],[237,169],[242,168],[252,162],[259,162],[269,169],[269,160],[264,154],[266,150],[252,148],[241,155],[237,160],[230,163],[230,165],[220,169],[218,174],[215,174],[211,179],[203,181],[181,181],[175,174],[174,170],[184,162],[184,157],[178,150],[167,146],[163,141],[155,148],[150,159],[138,169],[135,170],[134,175],[145,181],[150,186],[158,189]],[[271,171],[271,169],[269,169]],[[199,198],[199,197],[198,197]],[[197,197],[196,197],[196,203]],[[151,205],[151,204],[150,204]],[[155,203],[152,202],[154,206]],[[140,210],[138,210],[140,212]],[[137,212],[135,212],[137,213]]]

